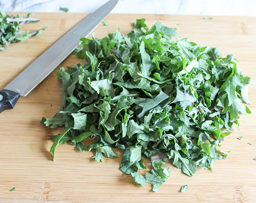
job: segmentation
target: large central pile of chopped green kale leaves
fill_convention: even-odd
[[[102,39],[81,38],[74,53],[87,64],[61,67],[61,109],[41,120],[65,126],[52,136],[53,156],[67,141],[80,151],[95,150],[97,162],[119,157],[112,148],[123,149],[120,169],[153,191],[168,179],[163,165],[170,159],[192,176],[198,165],[212,170],[227,157],[219,148],[230,132],[221,128],[229,131],[239,114],[251,113],[242,101],[250,104],[247,85],[255,82],[242,75],[234,55],[222,58],[218,48],[187,38],[171,41],[175,30],[160,21],[148,29],[138,19],[128,35],[118,29]],[[85,145],[86,138],[95,142]],[[145,176],[139,173],[146,168],[143,157],[151,159]]]

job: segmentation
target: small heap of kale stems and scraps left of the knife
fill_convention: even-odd
[[[35,37],[41,35],[41,30],[45,30],[47,25],[34,32],[29,33],[29,30],[27,30],[21,35],[23,25],[40,21],[39,18],[31,18],[31,15],[34,14],[28,13],[27,16],[19,17],[19,15],[17,15],[17,17],[15,17],[14,15],[9,16],[6,12],[0,10],[0,50],[6,50],[6,47],[3,45],[9,47],[10,43],[22,42],[33,35],[35,35]]]

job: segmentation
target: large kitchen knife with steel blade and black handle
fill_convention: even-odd
[[[110,0],[85,17],[62,38],[55,42],[29,67],[23,70],[3,90],[0,90],[0,113],[12,109],[20,96],[27,96],[44,78],[47,77],[93,29],[111,12],[118,0]],[[75,33],[75,34],[74,34]]]

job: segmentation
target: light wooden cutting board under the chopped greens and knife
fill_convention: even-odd
[[[21,13],[20,15],[24,15]],[[22,70],[58,40],[87,14],[36,13],[40,23],[31,23],[23,30],[49,25],[40,37],[11,44],[0,51],[0,88],[3,89]],[[203,16],[110,14],[95,29],[102,38],[120,27],[122,34],[132,29],[137,18],[144,17],[151,27],[157,20],[177,27],[182,38],[201,45],[218,46],[240,61],[244,75],[256,78],[256,17],[219,17],[204,20]],[[83,62],[70,55],[61,66]],[[61,83],[51,73],[26,97],[21,97],[13,110],[0,114],[0,203],[255,203],[256,202],[256,87],[250,86],[252,114],[241,116],[240,131],[234,125],[222,149],[230,151],[227,159],[214,164],[214,172],[198,167],[193,177],[168,164],[169,180],[159,192],[134,183],[134,178],[119,170],[122,156],[95,162],[94,151],[78,151],[73,145],[59,145],[55,162],[49,149],[50,136],[62,129],[50,129],[39,123],[42,116],[52,118],[61,106]],[[238,137],[243,136],[239,140]],[[250,142],[252,145],[249,145]],[[88,141],[88,143],[91,143]],[[122,154],[122,150],[115,150]],[[147,160],[146,164],[150,166]],[[148,169],[149,170],[149,169]],[[189,184],[189,190],[180,187]],[[15,191],[10,191],[16,187]]]

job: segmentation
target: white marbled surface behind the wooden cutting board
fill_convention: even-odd
[[[108,0],[52,0],[20,12],[93,12]],[[119,0],[111,13],[256,16],[256,0]]]

